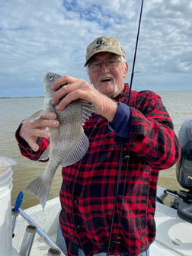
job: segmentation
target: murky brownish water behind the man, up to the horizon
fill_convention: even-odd
[[[192,117],[192,91],[166,91],[158,92],[161,96],[168,113],[174,123],[174,130],[178,134],[181,123]],[[24,191],[24,202],[22,209],[34,206],[39,201],[25,190],[27,184],[44,171],[46,163],[33,162],[24,158],[14,138],[14,133],[19,124],[26,117],[43,107],[43,98],[0,98],[0,155],[9,156],[16,160],[17,165],[13,167],[13,184],[11,191],[11,203],[20,190]],[[59,196],[61,186],[61,168],[56,171],[56,176],[50,190],[49,199]],[[160,171],[158,184],[169,189],[181,188],[175,177],[175,166],[168,170]]]

